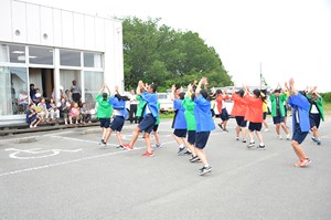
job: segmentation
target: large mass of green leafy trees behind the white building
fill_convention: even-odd
[[[197,33],[175,31],[159,25],[159,21],[124,19],[126,90],[135,88],[142,80],[156,83],[161,92],[173,84],[186,86],[202,76],[209,77],[211,86],[233,85],[214,48],[207,46]]]

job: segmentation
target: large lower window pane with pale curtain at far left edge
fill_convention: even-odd
[[[26,69],[0,66],[0,115],[24,114],[28,103]]]

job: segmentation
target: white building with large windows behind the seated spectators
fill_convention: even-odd
[[[0,124],[24,122],[30,84],[58,99],[76,80],[90,107],[104,83],[124,88],[121,21],[1,0],[0,27]]]

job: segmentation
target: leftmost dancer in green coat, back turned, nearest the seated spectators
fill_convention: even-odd
[[[105,88],[108,93],[105,93]],[[113,105],[109,104],[110,98],[110,90],[109,87],[104,84],[99,94],[96,96],[97,106],[97,118],[100,121],[102,127],[102,142],[99,143],[100,146],[106,146],[105,138],[110,133],[110,117],[113,115]]]

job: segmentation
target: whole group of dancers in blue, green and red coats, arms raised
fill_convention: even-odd
[[[184,92],[185,91],[185,92]],[[97,117],[102,127],[102,140],[99,145],[104,148],[111,133],[116,133],[119,142],[119,148],[134,149],[135,144],[142,133],[146,142],[146,151],[142,156],[154,156],[153,147],[160,147],[160,138],[158,134],[158,126],[160,123],[159,109],[160,103],[158,102],[157,85],[146,84],[139,81],[135,94],[135,101],[138,102],[136,116],[139,118],[139,124],[135,127],[131,139],[129,143],[124,143],[121,138],[121,129],[125,125],[126,118],[126,102],[132,97],[120,95],[118,87],[110,92],[109,87],[105,84],[100,88],[96,102]],[[172,122],[173,137],[178,144],[178,155],[191,155],[190,161],[201,161],[203,167],[199,170],[200,175],[205,175],[212,170],[207,160],[205,147],[212,130],[215,129],[213,114],[211,112],[213,97],[217,102],[218,112],[222,122],[218,126],[227,132],[226,121],[228,121],[228,113],[224,99],[231,98],[234,103],[231,115],[236,119],[236,140],[243,143],[247,142],[247,148],[256,146],[255,135],[257,137],[257,149],[266,149],[264,143],[261,128],[268,126],[266,122],[267,111],[265,106],[267,98],[271,102],[271,117],[276,127],[277,138],[282,139],[281,129],[286,134],[286,139],[291,140],[291,146],[299,159],[295,165],[305,167],[311,163],[310,158],[306,155],[301,147],[302,142],[312,132],[312,139],[317,144],[321,144],[319,138],[318,128],[320,121],[324,119],[322,98],[317,93],[317,87],[310,91],[299,92],[295,87],[295,80],[290,78],[285,83],[285,87],[278,86],[273,90],[267,96],[267,91],[253,90],[244,86],[241,90],[233,90],[231,97],[227,91],[215,91],[216,96],[212,96],[207,91],[207,78],[202,77],[199,83],[188,85],[186,90],[182,86],[172,86],[172,101],[174,107],[174,117]],[[286,107],[285,102],[290,106],[292,114],[292,135],[288,126],[285,124]],[[248,140],[246,140],[246,127],[248,124]],[[266,127],[267,130],[269,127]],[[152,145],[151,135],[156,136],[156,144]],[[241,138],[242,136],[242,138]]]

